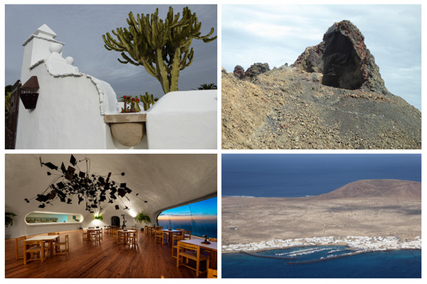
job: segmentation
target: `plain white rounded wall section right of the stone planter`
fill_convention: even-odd
[[[147,111],[149,149],[216,149],[217,90],[169,92]]]

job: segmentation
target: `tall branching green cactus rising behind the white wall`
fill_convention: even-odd
[[[151,14],[137,14],[137,18],[130,12],[127,18],[128,28],[117,28],[110,33],[102,35],[107,50],[121,52],[124,60],[133,65],[143,65],[145,70],[159,80],[164,93],[178,90],[179,71],[193,62],[193,39],[209,43],[216,36],[209,38],[214,33],[214,28],[207,35],[201,35],[201,23],[196,13],[191,13],[188,7],[174,15],[174,10],[169,7],[166,19],[163,21],[158,16],[159,9]]]

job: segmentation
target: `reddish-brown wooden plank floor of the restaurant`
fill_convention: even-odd
[[[31,261],[15,258],[15,240],[5,240],[6,278],[196,278],[196,273],[185,267],[176,268],[172,247],[154,242],[154,237],[138,232],[138,246],[115,244],[105,234],[100,242],[83,241],[80,230],[60,232],[70,237],[68,255]],[[201,275],[201,278],[206,274]]]

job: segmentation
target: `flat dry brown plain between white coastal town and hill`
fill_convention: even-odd
[[[421,196],[421,184],[419,192]],[[340,198],[222,197],[222,244],[322,236],[415,239],[421,237],[421,198],[407,193]]]

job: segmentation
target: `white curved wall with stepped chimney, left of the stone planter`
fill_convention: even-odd
[[[107,82],[81,73],[63,58],[64,43],[46,25],[26,40],[21,82],[38,78],[36,109],[19,109],[16,148],[117,148],[104,114],[117,114],[117,97]]]

